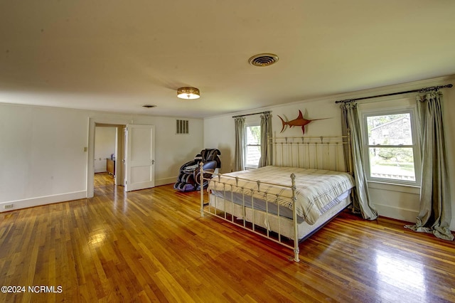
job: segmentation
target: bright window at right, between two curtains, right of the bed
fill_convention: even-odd
[[[363,112],[367,178],[420,185],[414,108]]]

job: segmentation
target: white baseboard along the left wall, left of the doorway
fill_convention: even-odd
[[[41,205],[46,205],[46,204],[51,204],[51,203],[78,200],[78,199],[83,199],[86,197],[87,197],[87,191],[74,191],[73,193],[61,193],[61,194],[52,195],[52,196],[43,196],[43,197],[28,198],[28,199],[23,199],[23,200],[0,202],[0,213],[3,213],[4,211],[14,211],[16,209],[28,208],[28,207],[33,207],[33,206],[41,206]],[[12,207],[8,208],[8,206],[12,206]],[[5,207],[7,207],[7,208],[5,208]]]

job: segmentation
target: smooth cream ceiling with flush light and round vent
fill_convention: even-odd
[[[1,1],[0,102],[213,117],[454,75],[454,15],[453,0]]]

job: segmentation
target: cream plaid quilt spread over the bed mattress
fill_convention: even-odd
[[[265,166],[215,177],[208,189],[245,193],[245,196],[252,194],[255,198],[292,209],[291,174],[296,176],[296,213],[308,224],[314,224],[329,203],[354,186],[352,176],[343,172]],[[255,180],[261,181],[259,191]]]

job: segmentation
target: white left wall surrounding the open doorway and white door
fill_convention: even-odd
[[[203,149],[202,119],[189,119],[191,134],[177,135],[175,117],[0,104],[0,212],[87,196],[89,119],[154,124],[156,186],[175,182],[181,164]]]

